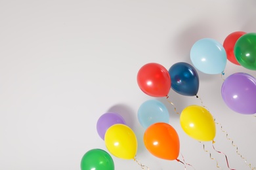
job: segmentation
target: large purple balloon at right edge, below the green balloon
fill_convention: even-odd
[[[234,73],[221,88],[226,105],[241,114],[256,113],[256,79],[247,73]]]

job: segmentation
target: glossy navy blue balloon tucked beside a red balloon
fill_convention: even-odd
[[[193,96],[198,93],[199,78],[196,69],[188,63],[175,63],[169,69],[171,88],[181,95]]]

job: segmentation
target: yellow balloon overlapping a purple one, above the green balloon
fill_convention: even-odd
[[[124,124],[110,126],[104,141],[106,148],[117,158],[131,160],[137,154],[137,137],[133,130]]]

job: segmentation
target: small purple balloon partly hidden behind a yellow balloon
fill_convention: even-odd
[[[100,118],[98,118],[97,122],[97,131],[98,135],[100,135],[101,139],[104,140],[105,133],[107,129],[114,124],[125,124],[125,120],[122,116],[114,112],[106,112],[102,114]]]

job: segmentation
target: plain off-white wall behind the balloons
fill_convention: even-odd
[[[234,31],[255,32],[255,0],[226,1],[0,1],[0,169],[80,169],[88,150],[106,149],[96,122],[105,112],[125,118],[138,140],[137,158],[153,170],[184,169],[144,147],[137,119],[140,105],[153,99],[137,85],[142,65],[169,69],[190,62],[190,49],[202,38],[223,43]],[[224,78],[255,71],[228,61]],[[200,73],[198,95],[216,122],[256,166],[256,118],[233,112],[221,97],[221,75]],[[177,111],[201,105],[173,90]],[[170,124],[181,140],[181,154],[195,169],[228,169],[211,142],[205,148],[188,137],[179,115],[165,98]],[[217,126],[215,148],[233,169],[250,169]],[[117,170],[141,169],[133,160],[112,156]],[[182,160],[181,155],[179,159]],[[187,169],[193,169],[187,167]]]

